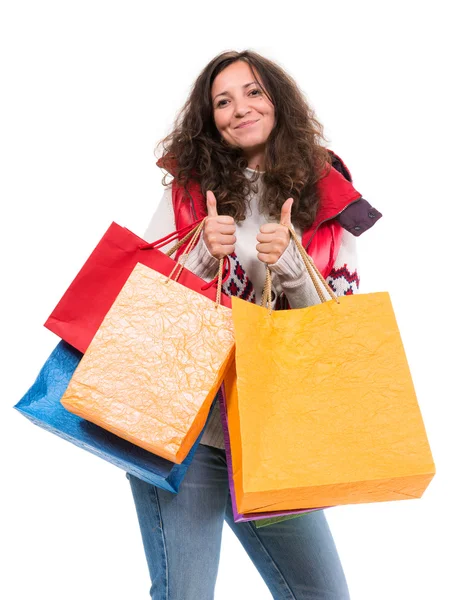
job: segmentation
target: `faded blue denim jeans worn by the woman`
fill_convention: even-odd
[[[152,600],[214,598],[224,520],[275,600],[349,599],[323,511],[260,529],[250,522],[234,523],[223,450],[199,445],[176,495],[127,477],[150,571]]]

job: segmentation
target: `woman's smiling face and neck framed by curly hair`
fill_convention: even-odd
[[[243,61],[229,65],[214,79],[211,95],[221,136],[231,146],[242,148],[248,166],[263,168],[266,140],[274,127],[274,106],[250,66]]]

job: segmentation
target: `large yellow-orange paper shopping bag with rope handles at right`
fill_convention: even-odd
[[[232,299],[237,377],[225,388],[238,510],[421,497],[435,468],[389,294],[330,290],[327,301],[294,241],[321,304],[273,312]],[[264,300],[268,288],[269,270]]]

